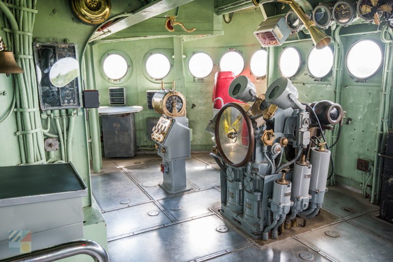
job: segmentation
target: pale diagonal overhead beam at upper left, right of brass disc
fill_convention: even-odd
[[[167,12],[173,8],[179,7],[180,5],[192,2],[193,0],[155,0],[142,8],[136,10],[129,16],[113,23],[112,25],[105,28],[104,31],[97,31],[89,42],[107,37],[118,31],[121,31],[127,27],[134,26],[142,21],[152,18],[156,15]]]

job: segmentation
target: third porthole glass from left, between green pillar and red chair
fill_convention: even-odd
[[[191,56],[188,69],[194,77],[205,78],[213,71],[213,60],[207,53],[197,52]]]

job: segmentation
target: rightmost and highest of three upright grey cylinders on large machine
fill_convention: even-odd
[[[319,150],[319,148],[311,148],[311,180],[310,191],[325,192],[326,182],[328,180],[330,151]]]

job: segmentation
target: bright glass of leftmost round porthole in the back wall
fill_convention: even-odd
[[[113,53],[105,58],[102,68],[109,79],[118,80],[127,74],[128,64],[123,56]]]

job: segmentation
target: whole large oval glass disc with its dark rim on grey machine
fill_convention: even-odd
[[[217,114],[215,130],[217,149],[225,161],[234,167],[245,165],[253,155],[254,131],[243,107],[225,104]]]

